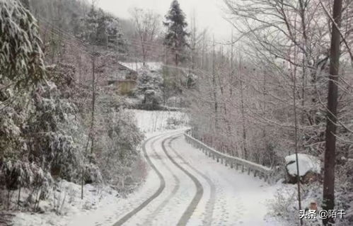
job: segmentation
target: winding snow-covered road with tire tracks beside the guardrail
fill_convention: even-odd
[[[117,225],[276,225],[266,222],[274,188],[206,157],[180,130],[147,140],[154,193],[122,213]],[[128,209],[128,208],[127,208]]]

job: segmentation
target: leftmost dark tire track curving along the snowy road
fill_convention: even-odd
[[[162,134],[162,135],[165,135],[165,134]],[[149,142],[150,140],[152,140],[152,139],[154,139],[156,137],[161,137],[162,135],[156,135],[154,137],[150,137],[148,140],[146,140],[144,142],[144,145],[142,145],[142,150],[144,152],[144,157],[146,158],[146,160],[149,163],[149,165],[151,166],[151,168],[156,172],[156,174],[158,175],[159,180],[161,181],[161,183],[159,184],[158,190],[151,197],[149,197],[148,199],[144,200],[144,202],[141,203],[141,205],[139,205],[137,208],[134,208],[134,210],[130,211],[124,217],[120,218],[120,220],[118,220],[113,226],[119,226],[119,225],[122,225],[125,222],[127,222],[127,220],[129,220],[132,216],[134,216],[140,210],[142,210],[144,207],[146,207],[146,205],[151,203],[152,200],[157,198],[162,193],[164,188],[166,188],[166,181],[164,180],[161,172],[158,171],[156,166],[151,162],[151,159],[149,158],[149,155],[146,152],[146,144],[147,144],[147,142]]]

